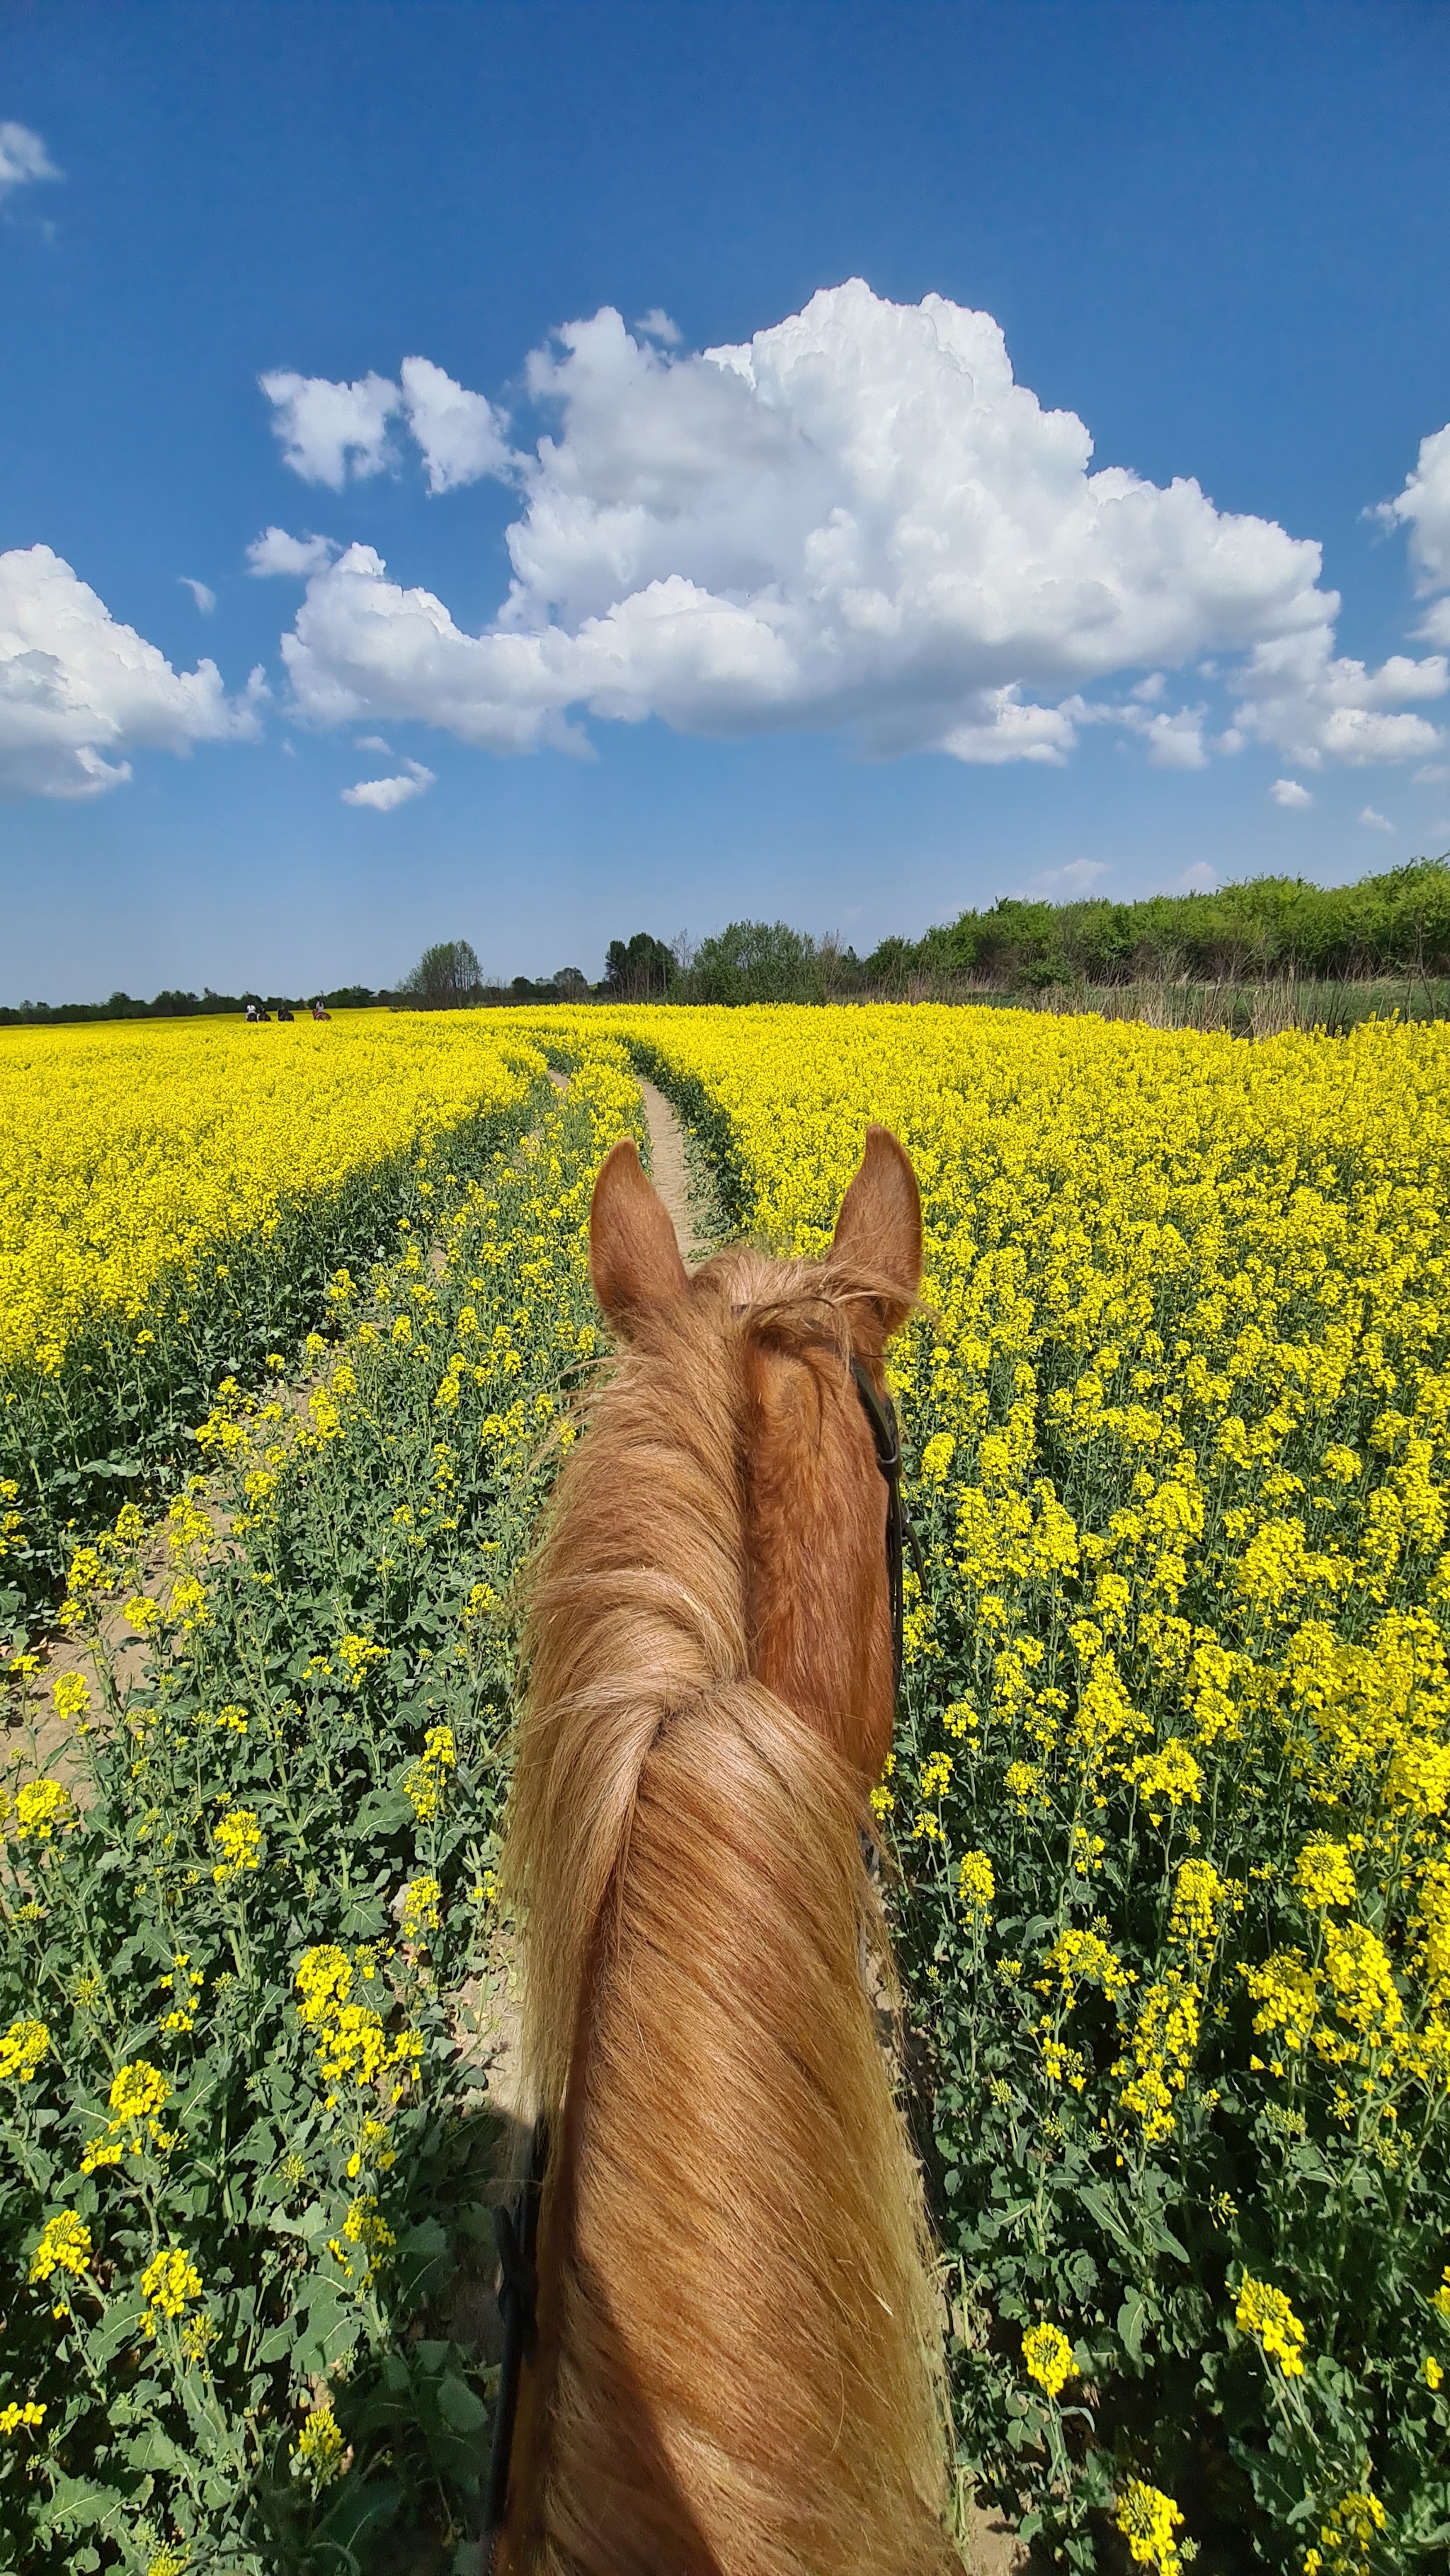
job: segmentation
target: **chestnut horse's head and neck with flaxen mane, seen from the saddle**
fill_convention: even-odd
[[[590,1262],[621,1358],[533,1579],[505,1844],[549,2161],[494,2566],[943,2576],[937,2303],[860,1973],[917,1180],[873,1126],[822,1265],[688,1278],[623,1141]]]

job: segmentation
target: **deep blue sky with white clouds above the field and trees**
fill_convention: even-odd
[[[1334,0],[10,5],[0,999],[1442,850],[1447,75]]]

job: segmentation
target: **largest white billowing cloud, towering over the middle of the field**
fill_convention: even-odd
[[[708,734],[847,726],[873,752],[968,762],[1061,762],[1082,724],[1118,724],[1185,770],[1244,742],[1308,768],[1440,742],[1417,706],[1450,688],[1445,657],[1337,657],[1313,541],[1216,510],[1187,477],[1095,469],[1084,422],[1015,381],[992,314],[943,296],[889,304],[858,278],[698,355],[605,307],[528,361],[554,415],[528,456],[507,456],[484,397],[407,371],[430,484],[523,487],[510,595],[469,634],[350,546],[283,641],[312,721],[415,716],[525,750],[577,744],[582,708]],[[381,459],[381,379],[373,446],[337,428],[358,386],[283,381],[332,422],[330,443],[301,435],[288,392],[283,435],[325,479]],[[337,417],[322,394],[348,397]],[[1169,703],[1185,665],[1231,690],[1213,744],[1205,706]],[[1136,672],[1118,706],[1084,696]]]

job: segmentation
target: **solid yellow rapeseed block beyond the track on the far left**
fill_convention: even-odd
[[[0,1479],[26,1499],[0,1589],[54,1577],[59,1528],[165,1468],[219,1381],[296,1345],[327,1275],[484,1170],[541,1082],[476,1012],[3,1030]]]

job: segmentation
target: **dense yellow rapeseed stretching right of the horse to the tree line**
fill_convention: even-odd
[[[1177,2566],[1180,2514],[1293,2576],[1313,2532],[1324,2571],[1419,2566],[1450,2527],[1450,1033],[608,1023],[775,1247],[824,1249],[868,1118],[922,1182],[894,1386],[927,1579],[873,1808],[963,2470],[1074,2566],[1105,2524]]]

